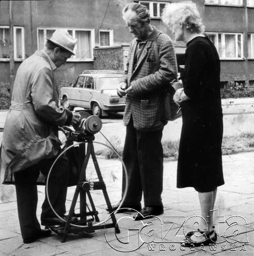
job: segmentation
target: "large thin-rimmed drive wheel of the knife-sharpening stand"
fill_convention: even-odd
[[[48,198],[48,202],[50,204],[50,207],[52,209],[52,211],[56,214],[56,216],[65,222],[65,220],[63,220],[56,212],[56,209],[54,209],[51,201],[50,201],[50,193],[49,193],[49,189],[48,189],[48,184],[50,182],[50,177],[51,177],[51,172],[52,169],[54,167],[54,165],[56,164],[56,162],[58,161],[58,159],[60,158],[60,156],[62,154],[67,154],[68,150],[73,150],[78,148],[78,145],[82,145],[85,144],[85,148],[86,148],[86,152],[87,152],[87,142],[78,142],[75,143],[71,146],[69,146],[68,148],[66,148],[65,150],[63,150],[63,152],[57,157],[57,159],[54,161],[54,163],[52,164],[50,171],[48,173],[48,177],[46,180],[46,196]],[[107,194],[108,194],[108,198],[110,200],[111,205],[114,205],[116,203],[118,203],[121,198],[122,198],[122,194],[121,194],[121,188],[122,188],[122,180],[123,180],[123,173],[125,173],[125,177],[127,177],[127,170],[125,167],[125,164],[123,163],[123,160],[121,159],[121,156],[118,154],[118,152],[111,148],[110,146],[100,143],[100,142],[93,142],[94,145],[94,151],[96,153],[96,161],[99,165],[100,168],[100,172],[102,175],[102,179],[105,183],[106,186],[106,190],[107,190]],[[82,145],[83,146],[83,145]],[[115,154],[115,159],[106,159],[105,156],[102,156],[101,154],[106,154],[107,155],[112,155]],[[71,159],[73,159],[74,157],[72,157]],[[71,164],[70,164],[71,166]],[[96,169],[94,167],[94,161],[92,159],[92,155],[90,155],[90,158],[88,160],[88,164],[87,167],[85,169],[85,180],[83,182],[95,182],[94,184],[96,184],[96,182],[99,180],[98,179],[98,175],[96,173]],[[75,193],[76,188],[79,186],[79,182],[76,182],[75,185],[71,184],[71,186],[68,187],[67,189],[67,199],[66,199],[66,214],[69,214],[69,210],[71,208],[71,203],[73,201],[73,196]],[[127,178],[125,180],[125,191],[124,191],[124,195],[123,195],[123,200],[126,197],[126,193],[127,193],[127,186],[128,186],[128,181]],[[94,218],[94,220],[92,220],[92,222],[85,222],[85,223],[79,223],[77,222],[76,224],[71,224],[71,226],[75,226],[75,227],[88,227],[89,225],[93,226],[98,226],[98,225],[102,225],[104,224],[108,218],[109,218],[109,212],[106,211],[106,208],[108,208],[106,200],[104,198],[104,193],[102,190],[98,189],[94,189],[94,190],[89,190],[90,195],[92,197],[92,203],[88,197],[88,195],[86,195],[86,212],[88,213],[90,211],[90,209],[92,210],[92,204],[94,204],[94,206],[96,207],[96,211],[98,211],[98,219],[96,220],[96,218]],[[82,205],[82,203],[80,204],[80,195],[78,196],[77,199],[77,203],[75,205],[75,215],[78,215],[80,213],[80,205]],[[119,208],[121,208],[121,205],[119,206]],[[111,218],[111,217],[110,217]],[[88,225],[89,224],[89,225]]]

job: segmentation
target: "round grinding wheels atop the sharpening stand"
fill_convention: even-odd
[[[90,116],[85,111],[79,112],[81,118],[79,120],[79,123],[77,125],[73,125],[73,128],[75,131],[80,133],[91,133],[95,134],[100,131],[102,128],[102,121],[98,116]]]

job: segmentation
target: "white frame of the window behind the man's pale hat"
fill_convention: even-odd
[[[39,30],[44,30],[44,45],[46,43],[46,33],[45,30],[57,30],[58,28],[37,28],[37,48],[39,49]],[[94,61],[94,46],[95,46],[95,36],[94,36],[94,28],[62,28],[65,30],[72,30],[73,38],[76,38],[76,31],[90,31],[91,32],[91,58],[76,58],[76,55],[72,55],[71,58],[67,59],[67,62],[75,62],[75,61]],[[73,52],[76,54],[77,44],[74,47]]]

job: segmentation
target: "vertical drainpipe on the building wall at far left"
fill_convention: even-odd
[[[12,95],[12,89],[13,89],[13,84],[14,84],[14,80],[15,80],[12,5],[13,5],[13,1],[9,1],[9,8],[10,8],[10,98]]]

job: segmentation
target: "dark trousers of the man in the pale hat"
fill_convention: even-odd
[[[60,152],[58,154],[60,154]],[[50,167],[55,159],[56,157],[43,160],[36,165],[14,173],[19,224],[23,239],[37,235],[41,229],[36,216],[38,202],[36,181],[40,175],[40,171],[44,176],[48,176]],[[68,173],[69,161],[65,155],[62,155],[58,161],[56,161],[54,168],[50,173],[48,183],[50,203],[56,213],[60,216],[66,213],[65,200],[67,195]],[[50,217],[56,217],[56,215],[49,205],[45,191],[45,200],[42,204],[41,218]]]

